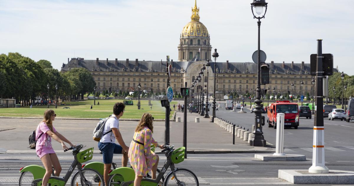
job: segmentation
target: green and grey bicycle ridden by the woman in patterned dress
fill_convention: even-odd
[[[164,181],[164,186],[168,185],[195,185],[199,186],[197,176],[190,170],[184,168],[175,168],[175,164],[181,163],[184,160],[185,147],[173,149],[173,145],[164,145],[165,149],[161,152],[165,152],[167,160],[162,168],[161,172],[158,174],[156,179],[143,178],[141,181],[142,186],[157,186],[162,177],[164,176],[166,170],[170,167],[171,171],[167,174]],[[109,186],[129,186],[134,183],[135,171],[132,168],[120,167],[114,169],[110,172],[108,183]],[[116,181],[116,176],[120,176],[123,181]]]

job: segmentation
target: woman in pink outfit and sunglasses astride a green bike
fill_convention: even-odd
[[[52,166],[54,167],[54,174],[56,176],[59,176],[62,171],[58,157],[52,148],[52,138],[62,144],[63,150],[68,148],[64,141],[69,143],[70,146],[74,146],[69,140],[55,130],[53,121],[56,116],[57,114],[55,114],[52,109],[46,110],[44,112],[44,119],[36,129],[36,153],[41,159],[46,170],[43,177],[42,186],[46,186],[48,184],[49,177],[53,171]]]

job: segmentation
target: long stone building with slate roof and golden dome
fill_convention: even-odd
[[[204,24],[199,22],[199,8],[192,8],[192,21],[182,30],[178,45],[178,61],[171,60],[172,66],[170,86],[175,92],[180,88],[192,85],[194,79],[211,57],[210,35]],[[193,28],[192,28],[193,27]],[[200,51],[200,52],[199,52]],[[292,92],[291,83],[294,86],[294,95],[300,94],[300,82],[303,81],[303,94],[312,94],[309,63],[269,63],[270,84],[262,88],[273,87],[283,94],[288,90]],[[85,60],[84,58],[68,58],[68,63],[62,66],[62,71],[70,71],[73,68],[88,69],[96,81],[97,90],[109,91],[133,91],[137,90],[141,83],[142,90],[152,88],[154,92],[165,92],[167,89],[166,61],[139,61],[135,60]],[[209,93],[213,91],[214,73],[216,73],[216,90],[228,93],[229,91],[245,92],[253,91],[257,85],[257,64],[236,62],[211,62],[209,67]],[[207,80],[205,70],[205,82]],[[206,85],[206,83],[204,83]]]

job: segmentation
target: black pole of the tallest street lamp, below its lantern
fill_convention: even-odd
[[[258,69],[257,69],[257,89],[256,89],[256,107],[255,107],[255,130],[250,140],[250,146],[266,146],[266,141],[264,140],[262,132],[262,100],[261,100],[261,60],[260,60],[260,50],[261,50],[261,19],[258,18]]]

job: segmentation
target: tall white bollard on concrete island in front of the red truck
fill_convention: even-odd
[[[276,115],[276,141],[275,141],[275,153],[273,156],[285,156],[284,153],[284,113],[278,113]]]

